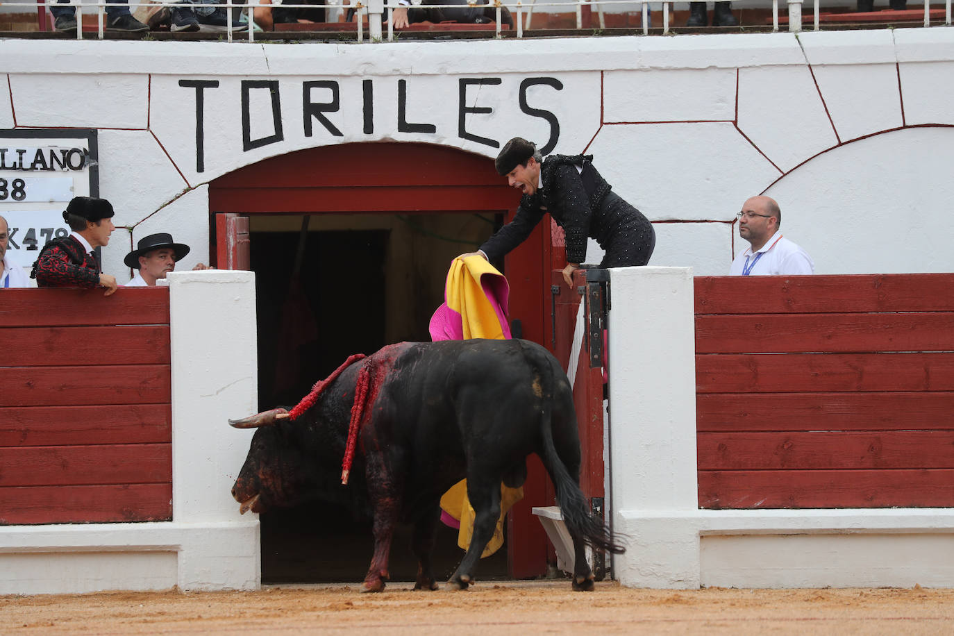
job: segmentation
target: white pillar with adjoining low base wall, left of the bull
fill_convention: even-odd
[[[174,272],[173,521],[0,526],[0,594],[255,589],[259,520],[230,490],[258,402],[255,275]]]

